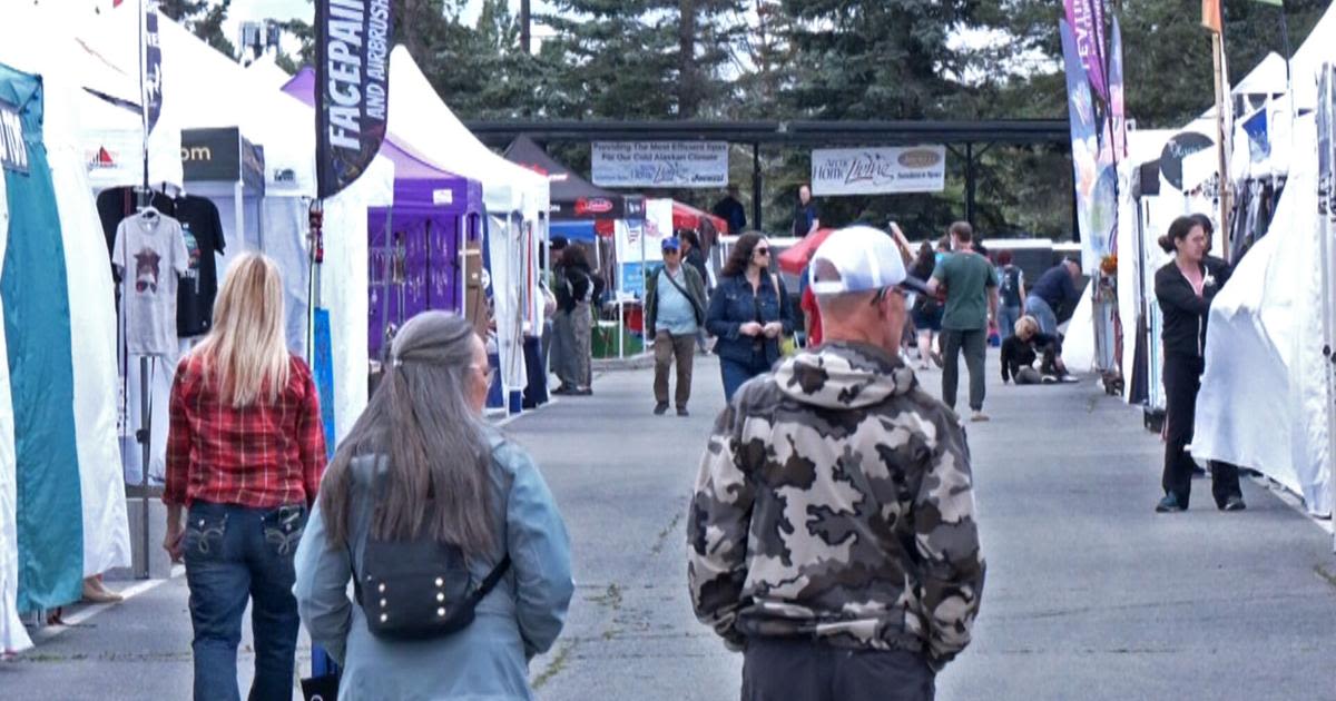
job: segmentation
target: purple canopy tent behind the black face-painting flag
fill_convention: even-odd
[[[283,92],[314,104],[315,72],[303,68]],[[385,330],[426,310],[464,312],[461,250],[482,236],[482,184],[440,170],[393,135],[394,206],[367,210],[367,350],[379,358]]]

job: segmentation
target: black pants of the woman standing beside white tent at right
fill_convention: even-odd
[[[1197,466],[1184,447],[1192,443],[1202,370],[1205,362],[1201,358],[1165,357],[1165,471],[1161,485],[1165,494],[1178,497],[1178,503],[1184,509],[1188,507],[1188,498],[1192,495],[1192,470]],[[1216,498],[1216,506],[1224,506],[1229,497],[1242,497],[1238,467],[1212,461],[1210,495]]]

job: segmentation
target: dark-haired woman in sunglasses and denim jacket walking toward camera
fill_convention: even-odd
[[[715,353],[732,401],[748,379],[779,361],[779,342],[794,332],[794,312],[779,275],[770,272],[770,240],[755,231],[737,238],[709,298],[705,328],[719,338]]]

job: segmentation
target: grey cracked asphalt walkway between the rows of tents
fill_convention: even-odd
[[[1189,513],[1154,514],[1162,449],[1140,411],[1093,382],[1003,387],[995,355],[989,373],[993,421],[969,427],[987,585],[938,698],[1336,700],[1336,558],[1320,525],[1253,481],[1246,511],[1217,511],[1197,481]],[[604,373],[593,397],[505,429],[537,457],[574,547],[566,630],[530,668],[540,698],[737,698],[741,658],[696,624],[685,590],[717,365],[697,358],[688,418],[651,414],[651,375]],[[922,379],[938,387],[937,371]],[[186,605],[175,578],[40,632],[0,664],[0,698],[188,698]]]

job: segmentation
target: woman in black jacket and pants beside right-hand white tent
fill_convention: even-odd
[[[1220,280],[1206,266],[1206,234],[1190,216],[1180,216],[1169,226],[1169,234],[1160,246],[1174,254],[1174,259],[1156,271],[1156,299],[1164,315],[1164,385],[1165,410],[1165,467],[1162,486],[1165,497],[1156,511],[1176,513],[1188,509],[1192,493],[1192,471],[1196,467],[1186,446],[1192,443],[1193,421],[1197,411],[1197,390],[1205,370],[1206,315],[1210,302],[1220,291]],[[1216,506],[1225,511],[1245,509],[1238,486],[1238,469],[1229,463],[1214,463],[1210,491]]]

